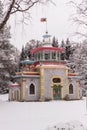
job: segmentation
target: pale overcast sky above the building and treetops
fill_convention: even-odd
[[[76,27],[70,20],[74,9],[69,6],[69,0],[55,0],[56,6],[48,4],[47,6],[33,7],[31,10],[31,19],[28,25],[16,24],[16,20],[11,16],[9,24],[11,24],[11,43],[21,50],[31,39],[41,40],[45,33],[45,23],[40,22],[40,18],[47,17],[47,28],[49,34],[62,39],[69,37],[73,39],[72,34]],[[15,16],[17,19],[17,17]]]

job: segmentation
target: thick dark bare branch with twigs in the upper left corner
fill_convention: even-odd
[[[4,27],[7,23],[8,19],[10,18],[11,14],[14,13],[22,13],[23,18],[29,14],[30,8],[32,8],[36,4],[45,4],[46,2],[52,2],[52,0],[4,0],[6,1],[6,5],[8,5],[5,14],[0,21],[0,30]],[[53,2],[52,2],[53,3]],[[4,4],[4,2],[3,2]]]

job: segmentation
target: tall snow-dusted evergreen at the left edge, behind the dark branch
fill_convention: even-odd
[[[3,5],[0,1],[0,21],[3,17]],[[10,44],[10,27],[6,25],[0,30],[0,92],[8,87],[11,75],[17,69],[18,53]]]

